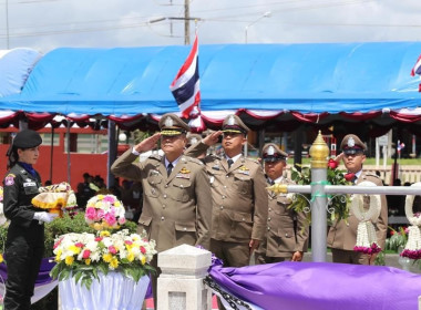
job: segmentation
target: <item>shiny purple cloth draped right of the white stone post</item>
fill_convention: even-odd
[[[223,268],[212,279],[265,310],[418,310],[421,276],[384,266],[279,262]]]

